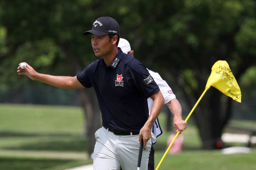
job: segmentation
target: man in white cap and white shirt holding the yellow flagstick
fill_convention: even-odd
[[[120,38],[118,47],[120,47],[124,53],[127,53],[131,56],[134,55],[134,51],[131,50],[130,43],[126,39]],[[186,121],[182,120],[182,117],[181,117],[182,108],[181,108],[180,103],[176,99],[175,94],[173,93],[171,87],[166,83],[165,80],[163,80],[161,78],[161,76],[158,73],[156,73],[150,69],[148,69],[148,71],[149,71],[150,75],[153,77],[153,79],[155,80],[156,84],[159,86],[159,89],[160,89],[162,95],[164,96],[164,100],[165,100],[164,104],[166,104],[168,106],[171,113],[174,115],[174,120],[173,120],[174,128],[179,130],[180,132],[182,132],[183,130],[185,130],[187,128],[187,123],[186,123]],[[152,107],[152,104],[153,104],[153,100],[151,98],[148,98],[149,111]],[[161,130],[158,119],[156,119],[151,131],[153,132],[153,135],[155,137],[152,137],[152,146],[151,146],[150,154],[149,154],[148,170],[154,170],[154,153],[155,153],[155,151],[154,151],[153,145],[156,143],[156,137],[158,137],[162,134],[162,130]],[[178,136],[178,138],[179,138],[179,136]]]

